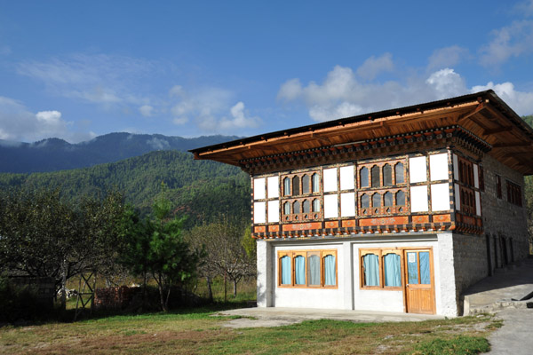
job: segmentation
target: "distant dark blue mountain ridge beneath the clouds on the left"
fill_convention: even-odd
[[[60,138],[47,138],[34,143],[0,139],[0,172],[29,173],[86,168],[153,151],[187,151],[237,138],[182,138],[161,134],[109,133],[77,144],[70,144]]]

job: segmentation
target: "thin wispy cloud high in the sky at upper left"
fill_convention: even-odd
[[[133,91],[140,91],[139,79],[156,67],[144,59],[78,53],[47,61],[24,61],[17,72],[44,83],[47,90],[59,96],[103,106],[142,105],[147,99]]]

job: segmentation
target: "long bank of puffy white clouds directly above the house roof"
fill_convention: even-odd
[[[298,79],[290,79],[282,84],[278,97],[304,103],[309,116],[323,122],[487,89],[496,91],[518,114],[533,113],[533,92],[515,91],[512,83],[469,88],[465,79],[449,67],[426,76],[411,75],[404,82],[360,83],[352,69],[337,66],[322,83],[301,85]]]

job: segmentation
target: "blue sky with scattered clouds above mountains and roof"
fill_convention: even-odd
[[[250,136],[486,89],[533,114],[533,0],[368,3],[0,0],[0,139]]]

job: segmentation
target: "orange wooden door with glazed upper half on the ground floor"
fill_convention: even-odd
[[[404,251],[405,302],[408,313],[434,314],[434,267],[431,249]]]

